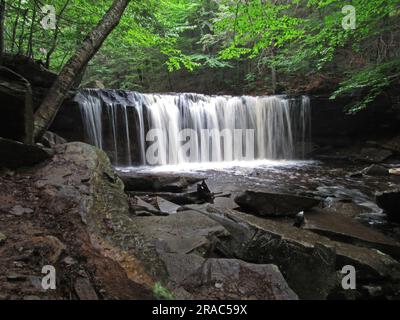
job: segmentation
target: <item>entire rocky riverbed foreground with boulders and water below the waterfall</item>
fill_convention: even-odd
[[[115,170],[87,144],[46,152],[0,175],[1,298],[399,297],[391,164]],[[43,265],[56,290],[42,289]],[[346,265],[355,290],[342,287]]]

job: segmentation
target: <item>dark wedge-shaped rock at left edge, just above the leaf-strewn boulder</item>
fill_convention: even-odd
[[[0,138],[0,167],[29,167],[52,157],[52,152],[37,145]]]

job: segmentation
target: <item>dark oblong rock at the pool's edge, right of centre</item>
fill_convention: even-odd
[[[246,212],[260,216],[295,216],[320,203],[313,198],[254,191],[237,196],[235,202]]]

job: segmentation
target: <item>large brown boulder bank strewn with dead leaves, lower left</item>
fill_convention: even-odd
[[[106,217],[128,207],[123,184],[104,152],[83,143],[57,146],[51,160],[0,175],[0,184],[0,231],[12,240],[1,243],[0,296],[105,300],[153,296],[145,271],[121,248],[113,247],[93,223],[93,216],[99,216],[113,227]],[[57,290],[43,290],[44,265],[56,268]]]

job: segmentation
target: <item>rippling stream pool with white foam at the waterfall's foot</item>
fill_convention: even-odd
[[[325,206],[351,202],[365,208],[357,219],[391,235],[394,233],[398,238],[399,226],[386,220],[385,213],[376,205],[375,194],[398,187],[399,177],[351,176],[365,166],[341,162],[260,160],[117,169],[204,178],[212,192],[231,193],[232,197],[245,190],[255,190],[319,197]]]

